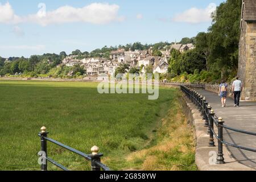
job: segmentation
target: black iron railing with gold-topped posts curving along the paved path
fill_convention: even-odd
[[[181,91],[185,93],[185,95],[189,98],[189,100],[191,100],[191,102],[193,102],[193,104],[197,106],[197,109],[200,111],[201,115],[203,116],[203,119],[205,119],[205,126],[208,127],[208,133],[210,135],[209,147],[215,146],[214,137],[218,140],[217,164],[225,163],[222,149],[223,144],[225,144],[226,146],[240,148],[242,150],[256,152],[255,148],[242,147],[234,143],[226,142],[223,138],[223,129],[254,136],[256,136],[256,133],[233,129],[232,127],[224,125],[224,121],[222,121],[222,118],[218,118],[217,115],[214,114],[212,107],[208,105],[208,102],[205,100],[205,97],[201,96],[195,90],[190,89],[187,86],[180,85],[180,88]],[[214,125],[217,126],[217,133],[214,131]]]

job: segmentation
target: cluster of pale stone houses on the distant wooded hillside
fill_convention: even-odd
[[[173,44],[165,51],[160,51],[162,56],[153,56],[153,48],[150,47],[148,50],[140,51],[135,50],[125,51],[125,49],[117,49],[116,51],[110,52],[109,59],[102,57],[92,57],[87,59],[77,59],[77,56],[67,56],[63,61],[62,65],[73,67],[76,64],[84,66],[86,69],[86,75],[97,76],[102,73],[112,75],[120,65],[128,65],[129,69],[137,68],[141,69],[142,73],[146,72],[146,67],[152,66],[153,73],[164,74],[168,72],[168,59],[170,58],[171,49],[176,49],[181,53],[194,49],[193,44]]]

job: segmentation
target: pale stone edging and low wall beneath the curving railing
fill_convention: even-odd
[[[217,165],[209,164],[209,159],[213,159],[212,151],[217,154],[217,147],[209,147],[209,135],[208,128],[204,127],[205,121],[203,120],[199,110],[196,106],[182,93],[181,105],[183,113],[187,118],[189,125],[193,126],[194,137],[196,142],[196,165],[200,171],[255,171],[254,168],[247,167],[241,163],[238,163],[236,159],[232,157],[228,148],[224,145],[224,158],[226,164]],[[214,142],[217,145],[217,139],[214,138]],[[210,154],[210,155],[209,155]]]

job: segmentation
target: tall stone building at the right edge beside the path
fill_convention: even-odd
[[[238,76],[242,100],[256,100],[256,0],[243,0]]]

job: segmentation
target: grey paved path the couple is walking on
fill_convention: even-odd
[[[197,90],[197,92],[207,99],[213,107],[214,113],[218,117],[223,118],[226,126],[256,133],[256,102],[241,102],[238,108],[233,107],[234,101],[232,98],[228,98],[226,107],[222,108],[221,99],[216,93],[207,90]],[[253,135],[224,129],[224,140],[238,146],[254,148],[256,150],[256,136]],[[240,150],[230,146],[228,146],[228,150],[238,162],[256,169],[256,152]]]

